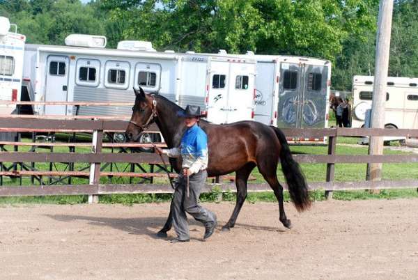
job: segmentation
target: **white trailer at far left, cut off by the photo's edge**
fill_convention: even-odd
[[[15,27],[10,32],[10,26]],[[6,17],[0,17],[0,100],[20,100],[24,42],[26,37],[17,33],[17,26]],[[0,104],[1,114],[12,114],[16,106]]]

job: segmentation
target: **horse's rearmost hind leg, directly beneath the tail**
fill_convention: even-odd
[[[279,180],[277,180],[277,164],[272,165],[274,165],[274,167],[267,166],[267,164],[258,165],[258,170],[268,182],[268,185],[273,189],[274,196],[276,196],[277,201],[279,201],[279,219],[281,223],[286,226],[286,228],[291,228],[291,220],[286,217],[286,212],[284,212],[283,187],[280,185]]]

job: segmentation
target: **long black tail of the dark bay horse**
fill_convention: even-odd
[[[293,160],[291,150],[283,132],[277,127],[271,127],[281,144],[281,171],[283,171],[284,177],[286,178],[291,199],[298,211],[307,210],[311,206],[311,201],[309,200],[308,185],[304,174],[300,169],[300,165]]]

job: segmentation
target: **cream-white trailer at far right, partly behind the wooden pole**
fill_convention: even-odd
[[[366,111],[371,109],[373,81],[373,76],[353,77],[352,127],[364,127]],[[387,78],[385,127],[418,128],[418,78]]]

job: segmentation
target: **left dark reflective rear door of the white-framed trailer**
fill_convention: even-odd
[[[277,105],[278,127],[300,127],[303,85],[301,81],[302,65],[281,63],[279,104]]]

